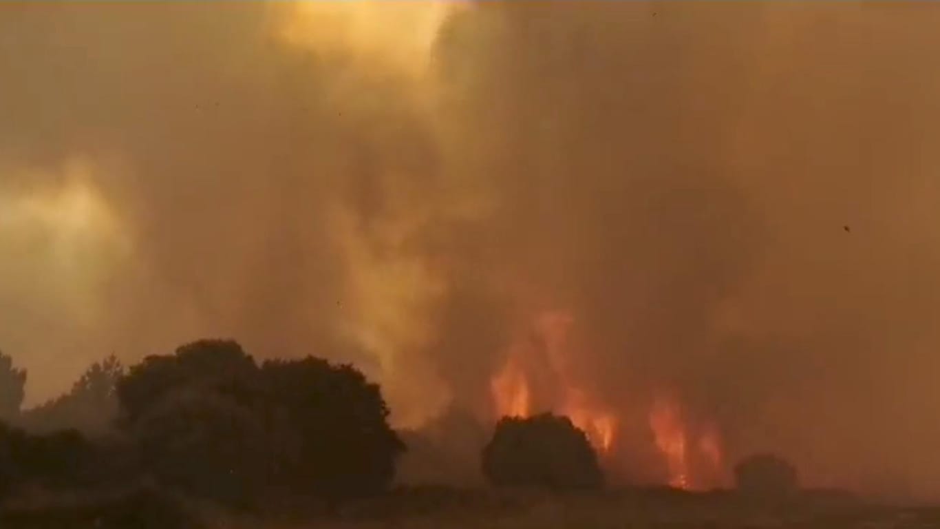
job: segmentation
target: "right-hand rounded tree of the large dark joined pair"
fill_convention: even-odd
[[[275,428],[277,468],[290,489],[339,500],[391,484],[404,444],[378,385],[352,366],[310,357],[267,361],[261,373],[271,414],[285,425]]]

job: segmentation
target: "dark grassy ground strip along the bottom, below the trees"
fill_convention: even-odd
[[[302,506],[303,505],[303,506]],[[809,493],[757,503],[728,492],[634,490],[547,495],[401,490],[325,513],[303,502],[230,513],[153,490],[7,505],[3,529],[940,529],[940,507],[872,505]]]

